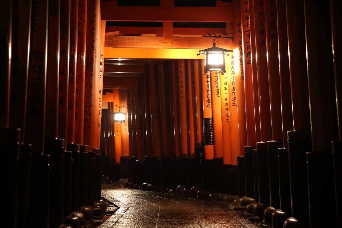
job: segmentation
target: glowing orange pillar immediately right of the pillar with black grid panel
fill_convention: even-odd
[[[212,91],[212,112],[214,123],[214,157],[223,158],[223,140],[222,140],[222,113],[221,113],[221,88],[220,88],[220,72],[213,71],[211,77]]]

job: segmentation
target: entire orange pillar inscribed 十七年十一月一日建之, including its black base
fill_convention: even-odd
[[[245,189],[246,189],[246,201],[245,198],[241,198],[240,204],[247,206],[249,202],[254,200],[254,170],[253,170],[253,149],[256,145],[255,134],[255,116],[254,116],[254,94],[253,94],[253,71],[252,71],[252,59],[255,60],[254,42],[252,37],[254,30],[251,30],[252,18],[254,15],[249,10],[248,2],[240,1],[241,12],[241,39],[242,39],[242,53],[243,53],[243,67],[244,67],[244,97],[246,107],[246,134],[247,144],[244,146],[244,162],[245,162]],[[252,18],[251,18],[252,17]],[[252,50],[254,48],[254,51]],[[255,61],[254,61],[255,63]],[[259,112],[259,109],[257,108]],[[260,131],[259,131],[260,134]]]

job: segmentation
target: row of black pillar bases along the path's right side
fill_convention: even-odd
[[[287,148],[274,140],[246,146],[237,165],[223,164],[222,158],[204,159],[203,146],[195,148],[195,158],[121,157],[116,180],[128,178],[126,186],[135,189],[201,199],[227,195],[274,228],[323,227],[324,218],[337,224],[341,142],[333,142],[332,151],[312,152],[311,145],[310,131],[293,130],[288,132]],[[322,208],[323,202],[329,210]]]

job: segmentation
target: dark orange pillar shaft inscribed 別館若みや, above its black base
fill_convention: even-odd
[[[45,98],[48,51],[48,3],[32,4],[29,77],[25,121],[25,144],[32,155],[44,152]]]

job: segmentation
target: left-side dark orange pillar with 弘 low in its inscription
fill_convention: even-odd
[[[78,45],[78,0],[70,1],[70,49],[69,49],[69,87],[68,123],[66,144],[75,141],[76,83],[77,83],[77,45]]]

